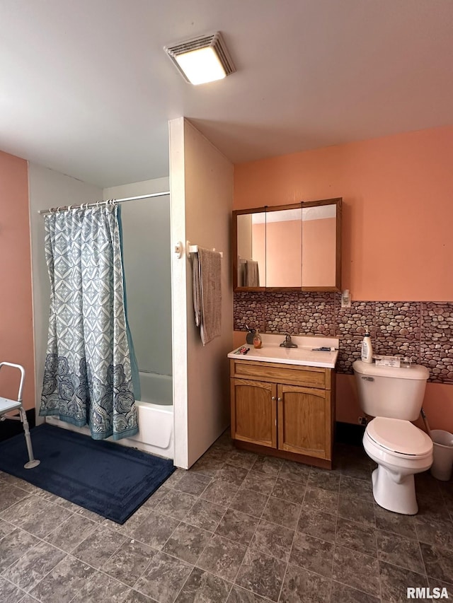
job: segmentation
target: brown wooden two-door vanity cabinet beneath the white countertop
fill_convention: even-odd
[[[237,447],[331,469],[333,369],[235,358],[230,375]]]

